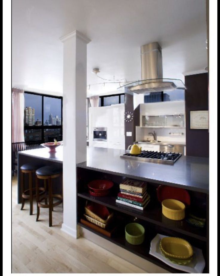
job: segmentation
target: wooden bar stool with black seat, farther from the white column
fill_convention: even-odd
[[[36,188],[33,188],[33,178],[32,175],[35,173],[35,171],[39,168],[39,165],[34,164],[24,164],[20,168],[21,172],[21,188],[22,188],[22,206],[21,210],[25,206],[25,200],[30,200],[30,215],[33,215],[33,197],[36,196]],[[25,190],[25,179],[24,174],[28,174],[28,180],[29,180],[29,188]],[[39,187],[40,195],[45,194],[46,191],[46,185],[44,185],[44,188]]]

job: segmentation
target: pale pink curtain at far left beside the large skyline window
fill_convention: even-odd
[[[24,90],[12,88],[12,143],[24,142]]]

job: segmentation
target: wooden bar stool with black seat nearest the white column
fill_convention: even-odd
[[[52,189],[52,179],[57,177],[61,177],[61,187],[62,187],[62,168],[58,166],[45,166],[36,170],[36,201],[37,201],[37,218],[36,221],[39,219],[40,215],[40,207],[41,208],[49,208],[49,227],[52,226],[52,211],[53,207],[58,206],[62,203],[63,197],[62,194],[53,194]],[[40,198],[39,193],[39,184],[38,179],[43,179],[44,181],[47,180],[48,183],[48,195],[44,195]],[[44,204],[42,201],[45,199],[49,200],[49,204]],[[53,203],[53,199],[58,199],[57,202]]]

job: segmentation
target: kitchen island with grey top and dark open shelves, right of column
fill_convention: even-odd
[[[174,273],[181,270],[174,269],[149,254],[150,242],[157,233],[184,238],[202,250],[206,262],[203,272],[208,272],[209,159],[181,156],[174,165],[165,165],[120,158],[124,153],[125,150],[87,148],[87,161],[77,164],[77,224],[82,229]],[[143,211],[116,203],[119,184],[125,178],[145,180],[148,183],[151,201]],[[105,197],[91,196],[87,184],[94,179],[111,180],[114,183],[111,193]],[[205,208],[206,226],[199,228],[192,226],[185,219],[173,221],[164,217],[156,195],[156,189],[161,184],[186,189],[190,194],[192,206],[200,207],[201,204],[201,209]],[[123,225],[114,235],[108,237],[83,224],[84,207],[88,201],[106,206],[126,222],[136,221],[142,224],[147,229],[143,245],[133,246],[126,242]]]

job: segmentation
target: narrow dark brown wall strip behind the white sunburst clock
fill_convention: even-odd
[[[133,95],[125,93],[125,112],[134,111],[133,105]],[[126,132],[132,132],[132,136],[126,136]],[[134,120],[131,122],[125,121],[125,149],[128,148],[129,145],[134,143]]]

